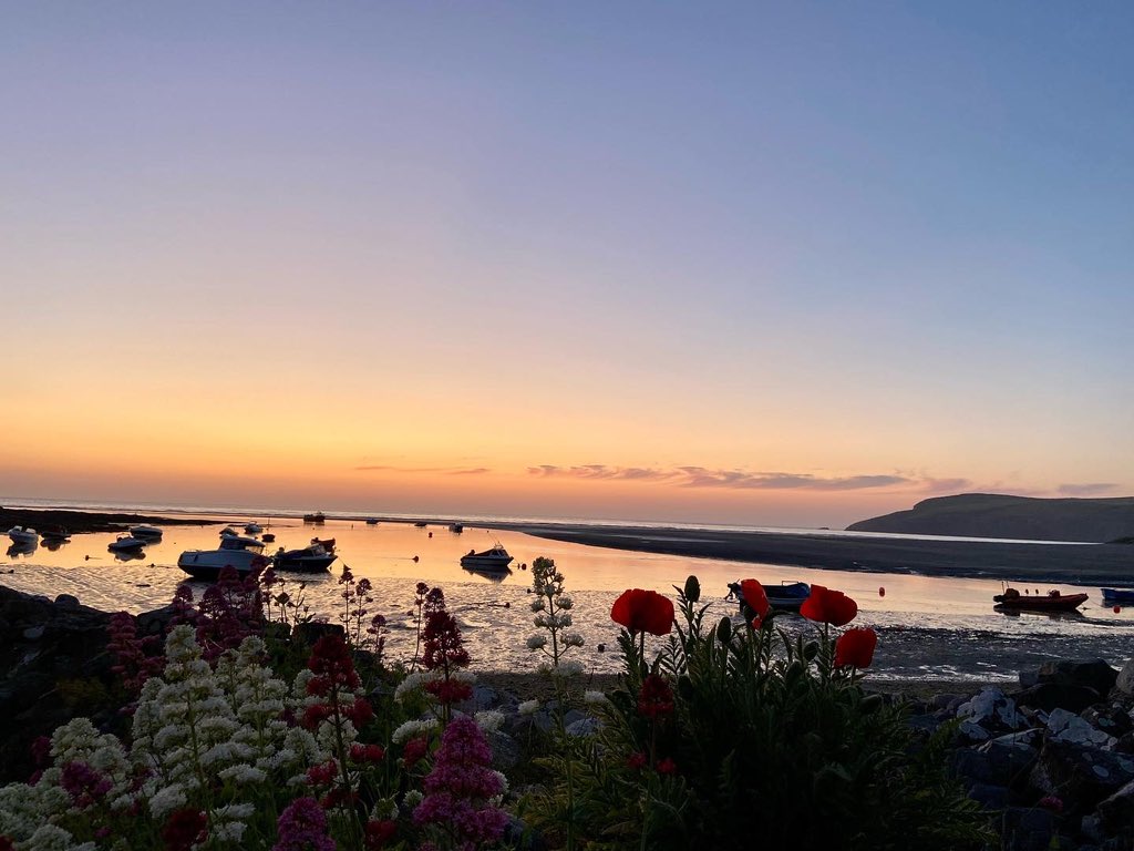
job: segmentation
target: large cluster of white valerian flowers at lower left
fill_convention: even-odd
[[[20,851],[94,849],[59,826],[61,817],[81,815],[81,806],[87,806],[76,803],[60,783],[64,768],[81,762],[98,772],[100,782],[109,781],[104,802],[112,809],[141,804],[159,823],[180,807],[200,806],[195,790],[219,778],[222,787],[210,794],[210,841],[240,846],[262,798],[257,787],[306,786],[307,768],[327,762],[332,751],[329,722],[312,734],[282,717],[287,710],[302,715],[311,705],[311,673],[297,677],[289,696],[287,684],[261,664],[263,655],[263,642],[248,638],[214,671],[202,658],[193,629],[175,627],[166,642],[163,674],[142,689],[129,751],[86,718],[59,727],[51,740],[53,765],[40,782],[0,787],[0,835],[15,840]],[[344,726],[349,745],[356,733],[349,723]],[[139,773],[145,780],[138,787]]]

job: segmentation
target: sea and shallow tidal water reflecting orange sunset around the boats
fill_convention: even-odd
[[[533,624],[531,564],[538,557],[552,558],[566,576],[567,591],[575,601],[572,630],[584,646],[574,652],[593,674],[616,673],[618,626],[610,607],[627,588],[648,588],[676,598],[689,575],[696,575],[701,605],[708,607],[706,623],[738,615],[736,603],[726,599],[728,583],[753,578],[764,583],[804,581],[844,591],[860,607],[855,626],[879,632],[879,644],[870,676],[880,681],[957,681],[1010,684],[1022,671],[1044,662],[1065,658],[1102,658],[1120,668],[1134,647],[1134,608],[1105,606],[1095,587],[1060,585],[1065,593],[1085,591],[1088,603],[1074,615],[1007,615],[992,608],[992,596],[1001,591],[999,581],[943,579],[915,574],[843,572],[771,564],[753,564],[714,558],[636,553],[552,541],[501,525],[531,523],[634,525],[699,530],[760,531],[767,533],[815,533],[864,536],[870,533],[832,530],[773,529],[642,521],[592,521],[572,517],[515,516],[421,516],[382,514],[369,524],[359,512],[323,512],[322,524],[305,523],[312,508],[249,508],[223,505],[124,505],[66,500],[0,497],[6,507],[71,508],[124,512],[200,520],[200,525],[167,525],[161,540],[135,556],[108,549],[115,533],[75,534],[56,548],[43,545],[24,553],[9,549],[0,559],[0,584],[20,591],[54,597],[74,595],[86,606],[134,614],[169,603],[177,587],[188,578],[177,567],[178,556],[189,549],[215,549],[220,531],[231,525],[244,533],[255,522],[276,536],[265,553],[278,547],[306,546],[313,538],[335,538],[338,559],[329,573],[287,574],[286,590],[302,595],[312,617],[339,621],[345,614],[342,567],[354,578],[373,585],[371,614],[387,618],[386,655],[389,662],[408,662],[415,643],[414,589],[418,582],[440,587],[456,616],[472,657],[474,669],[493,672],[535,671],[543,656],[527,647],[527,638],[540,632]],[[450,531],[459,521],[464,531]],[[420,525],[424,523],[424,525]],[[160,525],[160,524],[159,524]],[[888,536],[895,537],[895,536]],[[916,537],[916,536],[898,536]],[[505,575],[486,576],[460,567],[460,556],[501,544],[515,558]],[[1027,546],[1021,541],[1019,546]],[[285,574],[280,574],[285,575]],[[195,595],[206,584],[191,582]],[[1024,590],[1024,587],[1021,587]],[[1035,593],[1047,588],[1029,589]],[[804,618],[777,618],[790,639],[818,627]],[[652,639],[660,649],[662,639]]]

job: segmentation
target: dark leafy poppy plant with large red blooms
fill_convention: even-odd
[[[979,848],[983,815],[940,753],[861,686],[872,631],[831,635],[853,600],[816,585],[804,614],[823,626],[793,637],[759,588],[741,623],[710,625],[691,576],[652,660],[643,626],[658,618],[621,621],[623,688],[577,766],[592,846]]]

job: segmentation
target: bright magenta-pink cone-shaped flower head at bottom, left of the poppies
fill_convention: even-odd
[[[489,803],[503,791],[488,767],[491,761],[492,749],[476,722],[468,717],[450,722],[433,770],[425,777],[425,798],[414,810],[414,821],[441,826],[460,851],[497,842],[508,825],[508,814]]]

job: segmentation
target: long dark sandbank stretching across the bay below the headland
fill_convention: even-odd
[[[1052,584],[1134,584],[1134,545],[1124,544],[1009,544],[566,524],[500,523],[494,528],[591,547],[794,567]]]

